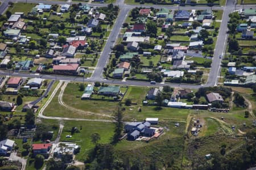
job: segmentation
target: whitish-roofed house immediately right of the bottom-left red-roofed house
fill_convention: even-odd
[[[76,143],[65,143],[64,145],[58,145],[54,148],[53,156],[55,158],[62,158],[64,155],[73,156],[78,151],[79,146]]]

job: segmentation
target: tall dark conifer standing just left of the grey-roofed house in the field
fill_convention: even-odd
[[[119,138],[122,137],[123,131],[123,113],[121,106],[117,106],[117,111],[114,112],[115,130],[113,136],[113,143],[118,142]]]

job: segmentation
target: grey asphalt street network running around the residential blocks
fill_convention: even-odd
[[[7,6],[8,2],[11,0],[6,0],[2,1],[2,5],[0,6],[0,13],[2,14]],[[27,3],[35,3],[33,0],[16,0],[16,2],[27,2]],[[218,82],[218,75],[221,70],[221,59],[219,58],[220,55],[224,54],[224,51],[226,49],[226,39],[228,37],[228,34],[226,33],[228,30],[228,20],[229,20],[229,14],[235,10],[235,5],[234,5],[234,0],[227,0],[225,6],[213,6],[213,7],[208,7],[208,6],[164,6],[165,8],[168,8],[170,10],[205,10],[207,8],[211,8],[212,10],[223,10],[223,15],[222,15],[222,21],[218,33],[218,38],[216,42],[216,46],[214,48],[214,55],[212,58],[212,65],[210,69],[210,73],[208,76],[208,81],[205,84],[201,85],[191,85],[191,84],[177,84],[177,83],[156,83],[154,85],[148,83],[148,82],[137,82],[137,81],[126,81],[122,82],[121,80],[108,80],[105,79],[102,76],[104,67],[108,63],[109,60],[109,54],[111,52],[112,46],[115,45],[115,42],[118,39],[119,31],[122,28],[122,24],[125,21],[127,15],[129,15],[129,11],[132,8],[135,7],[152,7],[148,5],[126,5],[124,0],[117,0],[115,5],[118,5],[120,8],[120,12],[118,15],[117,20],[114,23],[112,32],[110,32],[109,39],[106,41],[105,47],[101,52],[100,58],[98,59],[97,66],[93,72],[93,75],[91,78],[81,78],[79,76],[61,76],[61,75],[42,75],[42,74],[26,74],[26,73],[13,73],[13,72],[6,72],[6,71],[0,71],[0,75],[10,75],[10,76],[23,76],[23,77],[40,77],[44,79],[55,79],[55,80],[69,80],[69,81],[76,81],[76,82],[101,82],[101,83],[109,83],[109,84],[121,84],[121,85],[131,85],[131,86],[171,86],[171,87],[182,87],[182,88],[200,88],[200,87],[209,87],[209,86],[216,86]],[[65,4],[67,2],[65,1],[36,1],[36,3],[48,3],[48,4]],[[77,2],[72,2],[72,3],[77,3]],[[85,4],[85,3],[82,3]],[[107,6],[108,4],[104,3],[90,3],[91,6]],[[154,5],[154,8],[162,8],[163,6],[159,5]],[[236,8],[251,8],[255,7],[255,5],[237,5]]]

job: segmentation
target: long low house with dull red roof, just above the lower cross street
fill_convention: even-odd
[[[77,70],[79,69],[79,64],[69,64],[69,65],[54,65],[53,73],[56,74],[68,74],[77,75]]]

